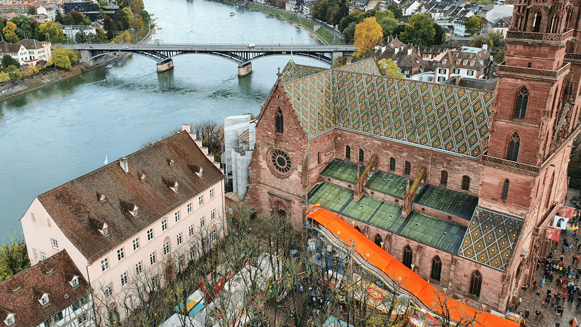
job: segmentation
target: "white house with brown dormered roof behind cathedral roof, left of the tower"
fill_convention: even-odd
[[[447,51],[434,65],[434,81],[443,82],[453,76],[486,79],[492,66],[488,45],[483,48],[461,47],[460,51]]]

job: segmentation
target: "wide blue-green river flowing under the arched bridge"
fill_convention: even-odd
[[[263,13],[206,0],[145,0],[156,18],[152,41],[163,43],[320,43],[307,31]],[[229,13],[236,15],[230,17]],[[131,154],[150,138],[229,115],[258,114],[260,102],[289,56],[258,59],[239,78],[238,65],[209,55],[174,58],[158,74],[156,62],[134,55],[0,102],[0,241],[21,233],[19,219],[38,196]],[[297,63],[324,64],[306,58]],[[106,79],[106,80],[105,80]]]

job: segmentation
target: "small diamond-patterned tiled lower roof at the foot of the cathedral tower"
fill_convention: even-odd
[[[458,254],[504,271],[521,227],[521,219],[477,207]]]

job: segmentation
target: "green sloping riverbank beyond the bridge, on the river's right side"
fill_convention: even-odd
[[[221,0],[224,2],[231,3],[235,5],[235,0]],[[257,10],[259,12],[265,13],[267,15],[278,15],[279,18],[286,20],[289,23],[300,26],[302,29],[306,30],[311,34],[311,36],[318,38],[325,44],[343,44],[336,35],[327,30],[327,26],[322,26],[321,24],[314,23],[313,21],[301,17],[296,13],[291,13],[282,9],[275,9],[270,6],[266,6],[263,3],[249,3],[245,8],[250,8]],[[315,31],[315,25],[319,26]]]

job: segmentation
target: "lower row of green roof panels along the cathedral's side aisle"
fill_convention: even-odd
[[[418,211],[412,211],[407,217],[401,216],[400,205],[371,196],[364,195],[359,201],[353,201],[352,190],[326,182],[309,192],[308,201],[451,253],[458,253],[467,229]]]

